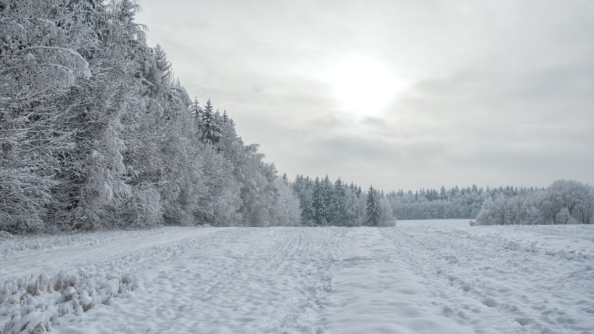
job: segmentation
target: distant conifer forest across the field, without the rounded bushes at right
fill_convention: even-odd
[[[479,188],[476,185],[459,188],[390,191],[343,182],[340,177],[331,182],[324,178],[297,175],[289,182],[299,198],[301,220],[308,226],[382,226],[394,219],[475,219],[484,202],[489,198],[510,198],[519,195],[540,193],[544,188],[506,187]],[[368,203],[377,203],[370,206]],[[370,219],[372,212],[379,218]]]

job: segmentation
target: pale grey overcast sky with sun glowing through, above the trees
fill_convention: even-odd
[[[594,184],[594,1],[139,3],[190,96],[290,179]]]

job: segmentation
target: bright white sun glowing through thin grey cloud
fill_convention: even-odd
[[[389,65],[365,55],[350,55],[321,76],[340,111],[360,118],[377,116],[402,92],[404,83]]]

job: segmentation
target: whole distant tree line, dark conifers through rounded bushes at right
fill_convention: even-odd
[[[286,180],[286,175],[283,175]],[[412,192],[378,191],[328,176],[297,175],[291,183],[301,220],[313,226],[382,226],[394,219],[475,219],[478,225],[592,223],[594,188],[558,180],[548,188],[477,185]]]

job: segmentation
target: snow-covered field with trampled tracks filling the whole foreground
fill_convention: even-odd
[[[594,226],[0,235],[0,294],[2,333],[594,333]]]

